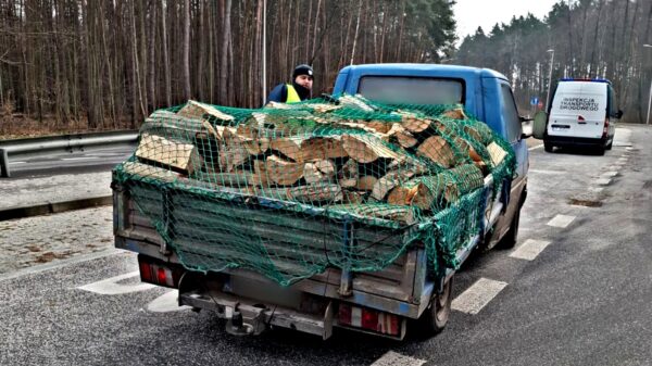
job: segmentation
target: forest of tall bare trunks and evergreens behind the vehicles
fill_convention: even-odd
[[[188,99],[259,108],[294,65],[314,96],[349,64],[488,67],[523,114],[548,76],[606,77],[625,121],[644,122],[652,1],[560,1],[463,40],[450,0],[0,0],[0,136],[137,128]],[[460,14],[457,16],[463,16]]]

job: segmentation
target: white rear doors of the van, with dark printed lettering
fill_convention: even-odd
[[[599,139],[606,117],[606,83],[560,81],[552,100],[548,135]]]

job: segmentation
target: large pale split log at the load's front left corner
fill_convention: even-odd
[[[191,143],[176,142],[161,136],[142,134],[136,156],[163,164],[190,175],[203,161]]]

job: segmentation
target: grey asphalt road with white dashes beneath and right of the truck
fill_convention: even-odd
[[[115,251],[0,276],[0,364],[651,365],[652,129],[616,136],[604,156],[532,148],[519,247],[467,262],[438,337],[234,338],[210,312],[139,286],[135,255]],[[134,292],[80,288],[120,275],[114,290]],[[475,283],[500,286],[482,302]]]

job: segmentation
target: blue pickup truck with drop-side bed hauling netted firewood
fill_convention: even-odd
[[[436,64],[353,65],[340,71],[336,93],[361,94],[388,104],[462,104],[467,113],[486,122],[511,143],[517,167],[498,190],[492,175],[485,177],[479,229],[456,247],[455,261],[463,263],[477,248],[516,243],[519,212],[527,195],[528,136],[523,134],[524,118],[503,75]],[[259,335],[284,327],[327,339],[339,327],[400,340],[409,325],[434,335],[448,321],[455,269],[435,275],[428,272],[423,245],[411,245],[383,270],[347,273],[328,267],[281,287],[240,268],[225,268],[218,274],[184,268],[174,250],[135,210],[129,192],[114,184],[113,194],[115,247],[138,253],[141,279],[178,289],[179,305],[214,311],[227,319],[229,333]],[[174,207],[175,214],[183,214],[183,210],[189,209]],[[300,229],[301,225],[294,227]]]

